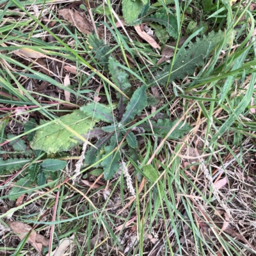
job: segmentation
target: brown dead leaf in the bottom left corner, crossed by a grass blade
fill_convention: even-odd
[[[7,225],[12,229],[12,231],[22,240],[27,236],[28,232],[31,230],[31,227],[19,221],[8,221]],[[49,239],[46,237],[36,234],[34,230],[29,234],[27,243],[30,243],[33,247],[35,247],[37,252],[42,252],[43,246],[49,245]]]

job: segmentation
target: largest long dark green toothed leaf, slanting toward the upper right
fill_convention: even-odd
[[[224,33],[222,31],[218,33],[212,31],[208,36],[204,35],[203,38],[196,38],[195,43],[190,42],[188,49],[184,49],[180,52],[179,57],[175,59],[170,82],[175,79],[184,79],[187,75],[193,75],[196,67],[204,65],[204,58],[207,56],[207,52],[212,51],[220,44],[223,38]],[[167,83],[170,68],[170,65],[166,65],[163,71],[155,75],[157,83],[161,85]],[[155,85],[155,83],[151,85]]]

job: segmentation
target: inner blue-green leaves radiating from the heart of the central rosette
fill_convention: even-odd
[[[135,134],[127,129],[127,125],[134,120],[134,117],[141,114],[143,108],[147,106],[146,86],[143,85],[138,88],[132,95],[131,101],[127,104],[126,110],[120,122],[118,122],[113,115],[113,111],[108,106],[96,102],[92,102],[86,106],[81,107],[81,110],[88,116],[94,116],[97,120],[102,120],[110,125],[102,127],[102,131],[107,135],[99,138],[95,144],[96,148],[90,148],[86,152],[84,162],[86,164],[93,164],[99,159],[101,150],[104,149],[104,158],[101,165],[104,168],[104,177],[106,180],[111,179],[119,169],[120,161],[120,141],[125,135],[125,140],[131,148],[138,147],[138,141]],[[97,129],[99,131],[99,129]],[[93,134],[93,131],[92,131]],[[90,134],[90,136],[93,136]],[[110,142],[109,142],[110,141]],[[109,142],[109,145],[107,143]],[[111,154],[111,152],[113,152]]]

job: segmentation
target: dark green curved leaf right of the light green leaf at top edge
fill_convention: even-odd
[[[157,12],[154,15],[150,15],[150,17],[147,17],[143,20],[149,20],[163,25],[170,36],[172,36],[173,38],[178,37],[178,24],[177,18],[175,16],[168,15],[168,13],[166,12]]]

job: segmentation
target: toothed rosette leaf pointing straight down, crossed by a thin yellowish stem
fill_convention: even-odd
[[[116,141],[116,134],[111,137],[109,146],[105,147],[104,156],[108,155],[118,146],[118,141]],[[103,157],[104,157],[103,156]],[[104,168],[104,178],[106,180],[111,179],[115,173],[119,170],[120,152],[117,149],[113,154],[108,156],[102,161],[102,166]]]

